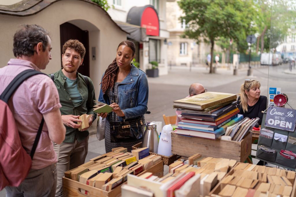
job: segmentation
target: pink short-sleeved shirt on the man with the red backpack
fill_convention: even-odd
[[[32,62],[10,59],[7,66],[0,68],[0,94],[17,74],[28,69],[40,71]],[[57,88],[46,75],[34,75],[25,80],[9,99],[8,105],[15,117],[22,146],[28,154],[36,138],[42,114],[62,107]],[[56,162],[57,155],[44,122],[31,168],[41,169]]]

